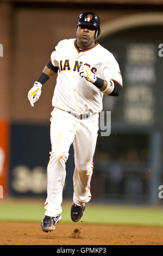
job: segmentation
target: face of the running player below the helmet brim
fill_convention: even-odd
[[[77,27],[77,44],[79,47],[89,48],[95,43],[96,27],[80,25]]]

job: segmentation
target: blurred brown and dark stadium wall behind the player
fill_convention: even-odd
[[[162,175],[163,1],[1,1],[0,3],[0,186],[4,197],[46,197],[51,149],[49,118],[57,75],[43,86],[32,108],[28,90],[55,45],[76,37],[77,17],[101,19],[97,40],[120,64],[123,92],[104,96],[111,135],[98,136],[91,181],[92,200],[158,203]],[[72,197],[73,148],[64,197]],[[2,196],[1,196],[2,198]]]

